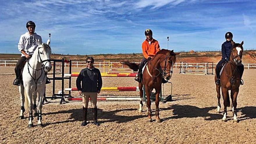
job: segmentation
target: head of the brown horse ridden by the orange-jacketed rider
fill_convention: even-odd
[[[164,61],[162,61],[160,63],[160,66],[162,68],[162,70],[164,70],[164,77],[169,80],[172,77],[173,74],[173,65],[176,62],[176,55],[179,53],[174,53],[173,50],[166,50],[166,49],[162,49],[166,51],[166,55],[165,55],[165,59]]]

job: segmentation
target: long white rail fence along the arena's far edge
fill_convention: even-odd
[[[9,60],[0,60],[0,67],[15,67],[17,61],[9,61]],[[186,68],[189,66],[196,68],[203,68],[205,67],[205,63],[186,63]],[[60,65],[56,63],[56,65]],[[103,62],[94,62],[95,67],[103,67]],[[105,63],[106,65],[106,63]],[[179,68],[181,63],[175,63],[174,68]],[[216,67],[217,63],[213,64],[214,67]],[[256,63],[243,63],[245,69],[256,69]],[[65,67],[69,66],[69,63],[65,63]],[[85,67],[86,61],[72,61],[72,67]],[[110,68],[127,68],[126,65],[122,65],[120,62],[110,62]]]

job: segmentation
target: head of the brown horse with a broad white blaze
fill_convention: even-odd
[[[243,41],[241,44],[232,42],[232,51],[230,54],[230,61],[234,61],[236,65],[242,63],[243,55]]]

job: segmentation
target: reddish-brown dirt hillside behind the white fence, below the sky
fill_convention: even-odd
[[[61,55],[53,54],[52,59],[71,59],[72,61],[85,61],[87,56],[92,56],[95,61],[109,60],[113,62],[128,60],[139,62],[143,58],[142,54],[99,54],[99,55]],[[17,60],[20,54],[0,54],[0,60]],[[221,59],[221,52],[182,52],[177,55],[176,62],[187,63],[217,63]],[[243,63],[256,63],[256,50],[243,51]]]

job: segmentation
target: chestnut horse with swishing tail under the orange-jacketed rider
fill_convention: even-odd
[[[152,122],[151,118],[151,100],[150,95],[152,90],[155,89],[156,91],[156,121],[161,122],[159,118],[159,95],[161,92],[161,84],[162,78],[165,77],[169,80],[173,73],[173,65],[176,61],[176,54],[167,49],[161,49],[160,51],[155,54],[155,56],[147,62],[145,66],[145,70],[143,71],[143,79],[139,83],[140,89],[140,109],[139,111],[142,112],[143,106],[143,85],[145,89],[145,93],[147,96],[147,109],[148,109],[148,121]],[[130,67],[132,70],[137,71],[139,64],[136,63],[129,63],[129,62],[122,62],[123,64]]]

